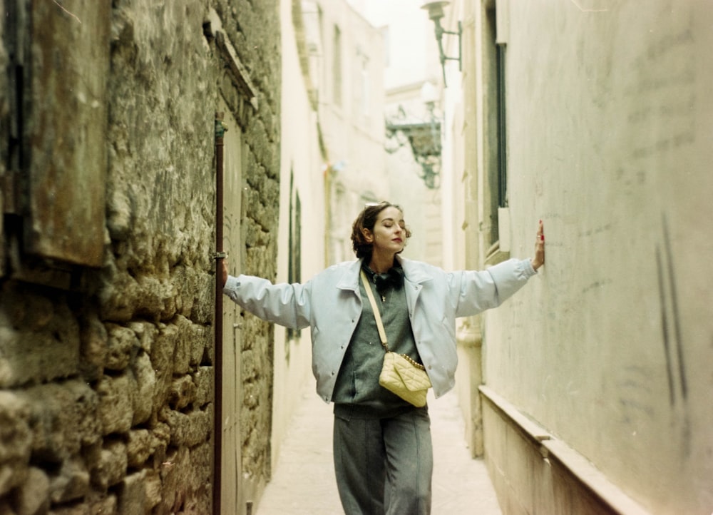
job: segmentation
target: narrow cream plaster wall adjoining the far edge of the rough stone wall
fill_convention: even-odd
[[[290,260],[299,263],[300,279],[309,280],[325,267],[324,263],[324,178],[319,153],[317,111],[311,102],[309,49],[304,39],[302,4],[281,0],[282,33],[282,131],[280,141],[280,221],[277,245],[277,282],[289,282]],[[306,16],[314,16],[314,14]],[[314,58],[312,59],[314,61]],[[313,63],[314,64],[314,63]],[[314,89],[311,92],[314,95]],[[297,205],[299,198],[299,207]],[[291,223],[292,220],[292,223]],[[297,224],[297,221],[301,223]],[[292,234],[290,234],[292,230]],[[313,389],[312,345],[309,329],[295,334],[275,327],[275,387],[272,404],[272,463],[299,407],[305,384]],[[326,407],[326,406],[325,406]]]

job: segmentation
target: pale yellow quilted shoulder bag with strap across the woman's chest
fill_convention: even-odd
[[[371,310],[374,311],[381,345],[386,350],[384,365],[381,367],[381,374],[379,374],[379,384],[390,392],[394,392],[401,399],[414,404],[414,406],[424,407],[426,405],[426,394],[431,387],[431,379],[429,379],[429,374],[426,374],[426,368],[409,356],[396,354],[396,352],[389,350],[386,331],[384,331],[384,324],[381,322],[381,313],[379,313],[379,307],[376,305],[376,300],[374,300],[374,292],[371,291],[371,285],[366,280],[363,270],[361,271],[361,282],[364,282],[364,290],[366,290],[366,295],[369,297]]]

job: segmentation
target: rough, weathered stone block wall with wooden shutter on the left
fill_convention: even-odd
[[[231,264],[272,277],[277,1],[0,9],[0,513],[211,513],[215,113]],[[270,475],[270,331],[242,329],[238,481]]]

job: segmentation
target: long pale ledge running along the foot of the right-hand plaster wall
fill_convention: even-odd
[[[612,511],[621,515],[650,515],[650,511],[643,509],[640,504],[627,496],[582,454],[526,417],[515,405],[498,395],[493,389],[485,385],[481,385],[478,389],[488,404],[500,412],[506,421],[511,423],[533,445],[538,446],[543,459],[550,461],[554,459],[561,464],[585,488],[610,506]]]

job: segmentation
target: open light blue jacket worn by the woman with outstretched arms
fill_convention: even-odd
[[[456,317],[496,307],[535,275],[530,260],[511,259],[488,270],[445,272],[397,256],[404,269],[406,303],[421,361],[440,397],[456,382]],[[361,315],[361,260],[319,272],[304,284],[228,277],[223,292],[257,317],[285,327],[312,329],[312,373],[317,393],[332,400],[344,352]],[[366,301],[368,302],[368,300]]]

